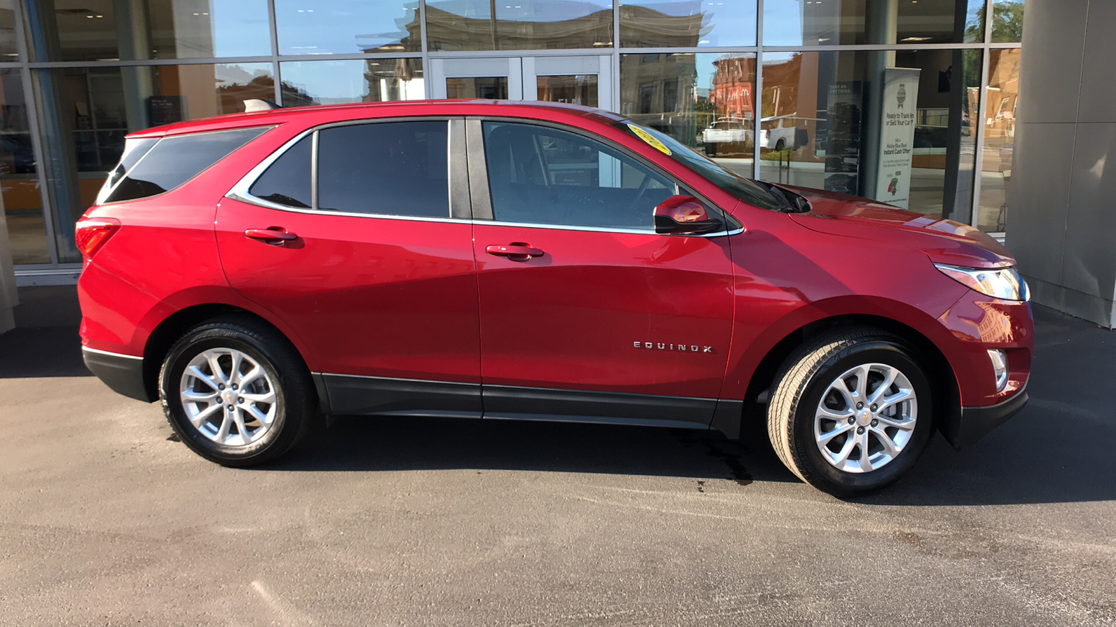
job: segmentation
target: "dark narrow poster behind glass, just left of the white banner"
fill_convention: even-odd
[[[860,115],[859,80],[830,83],[826,98],[827,192],[859,193]]]

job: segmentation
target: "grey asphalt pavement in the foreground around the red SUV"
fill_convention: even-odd
[[[1116,335],[1036,307],[1032,401],[843,502],[756,437],[338,418],[258,470],[0,336],[0,625],[1109,625]]]

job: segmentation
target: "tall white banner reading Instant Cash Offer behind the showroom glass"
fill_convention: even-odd
[[[917,100],[917,69],[884,70],[879,166],[876,171],[876,193],[873,197],[902,209],[908,209],[911,205],[911,157],[914,155]]]

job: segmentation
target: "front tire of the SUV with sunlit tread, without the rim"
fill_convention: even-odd
[[[917,415],[910,440],[891,461],[867,472],[848,472],[822,455],[815,437],[815,413],[829,385],[864,364],[897,368],[914,389]],[[926,374],[902,339],[872,328],[836,329],[809,338],[783,361],[768,404],[768,435],[776,454],[799,479],[836,496],[855,496],[889,485],[911,470],[933,435],[932,403]],[[859,447],[855,451],[857,457],[864,454]]]

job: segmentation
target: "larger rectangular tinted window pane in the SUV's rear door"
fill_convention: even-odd
[[[318,209],[450,216],[449,123],[381,122],[318,132]]]

